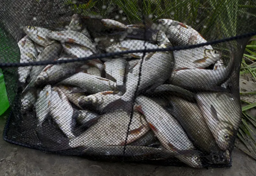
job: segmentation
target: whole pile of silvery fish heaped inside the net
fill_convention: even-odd
[[[20,62],[206,42],[193,28],[170,19],[125,24],[74,14],[68,28],[23,30],[27,35],[18,42]],[[228,48],[227,66],[221,52],[207,45],[20,67],[22,112],[36,112],[41,136],[48,132],[44,124],[61,131],[68,140],[62,149],[175,157],[198,168],[204,161],[227,164],[241,121],[239,100],[227,91],[234,68],[234,52]],[[55,134],[48,135],[54,139]]]

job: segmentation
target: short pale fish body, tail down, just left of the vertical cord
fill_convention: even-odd
[[[127,61],[121,58],[104,63],[106,78],[116,82],[116,86],[119,88],[119,90],[124,85],[124,77],[126,74],[127,66]]]

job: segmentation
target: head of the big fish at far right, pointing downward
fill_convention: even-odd
[[[217,144],[221,150],[227,150],[230,141],[233,139],[233,132],[229,129],[222,129],[217,134]]]

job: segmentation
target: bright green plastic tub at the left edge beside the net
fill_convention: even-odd
[[[9,108],[9,106],[9,100],[4,83],[4,75],[0,68],[0,116]]]

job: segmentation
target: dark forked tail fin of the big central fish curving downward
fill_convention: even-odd
[[[132,111],[132,101],[124,101],[121,98],[112,101],[111,103],[109,103],[102,111],[101,114],[106,114],[109,112],[113,112],[116,110],[124,110],[127,114],[130,114]]]

